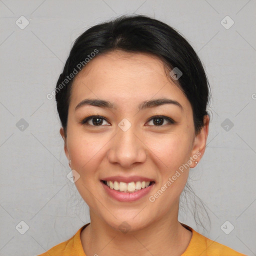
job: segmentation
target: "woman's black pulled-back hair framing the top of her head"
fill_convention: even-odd
[[[178,80],[170,79],[191,104],[195,132],[201,129],[203,116],[208,114],[209,85],[202,63],[191,45],[178,31],[159,20],[145,15],[122,15],[88,28],[76,38],[70,50],[55,88],[57,111],[65,135],[74,73],[86,66],[90,56],[113,50],[154,54],[169,70],[175,67],[181,70]],[[72,78],[70,74],[73,74]]]

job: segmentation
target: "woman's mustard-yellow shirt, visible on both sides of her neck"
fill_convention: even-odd
[[[68,240],[53,246],[37,256],[86,256],[82,248],[80,233],[88,224],[79,228]],[[246,256],[199,234],[190,226],[181,224],[192,232],[192,236],[186,250],[180,256]]]

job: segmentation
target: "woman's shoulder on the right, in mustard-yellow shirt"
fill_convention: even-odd
[[[189,230],[192,231],[192,237],[188,247],[181,256],[246,256],[224,244],[207,238],[191,227],[189,227]]]

